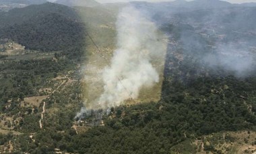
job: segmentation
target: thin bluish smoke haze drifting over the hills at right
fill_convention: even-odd
[[[170,14],[168,17],[172,21],[165,22],[172,23],[174,28],[167,31],[170,31],[170,37],[175,37],[177,46],[172,46],[173,50],[168,53],[181,50],[184,58],[182,64],[197,68],[198,73],[210,72],[236,78],[253,76],[256,68],[253,14],[255,9],[251,7],[201,9]]]

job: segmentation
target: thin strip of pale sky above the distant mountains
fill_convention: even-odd
[[[100,3],[108,3],[108,2],[127,2],[127,1],[136,1],[136,0],[96,0]],[[158,2],[158,1],[174,1],[174,0],[137,0],[137,1],[150,1],[150,2]],[[191,0],[187,0],[191,1]],[[223,0],[228,1],[230,3],[247,3],[247,2],[256,2],[256,0]]]

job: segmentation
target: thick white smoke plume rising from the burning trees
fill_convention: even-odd
[[[90,109],[119,106],[125,100],[139,96],[141,88],[150,87],[160,81],[160,76],[152,61],[158,60],[166,52],[166,42],[158,27],[134,7],[122,9],[117,17],[117,50],[104,70],[102,80],[104,90]],[[87,110],[82,108],[77,117]]]

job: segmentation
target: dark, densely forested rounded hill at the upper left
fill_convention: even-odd
[[[1,39],[32,50],[53,51],[77,46],[83,28],[77,13],[64,5],[44,3],[1,13]]]

